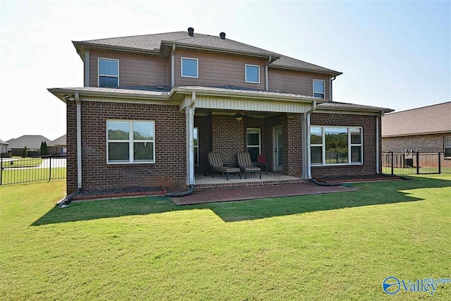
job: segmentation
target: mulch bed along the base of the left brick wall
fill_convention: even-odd
[[[138,195],[164,195],[166,190],[159,186],[132,186],[125,188],[101,188],[82,190],[73,199],[104,199],[109,197],[134,197]]]

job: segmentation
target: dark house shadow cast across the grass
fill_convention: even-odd
[[[412,180],[404,181],[357,183],[353,186],[361,187],[362,191],[187,206],[176,206],[168,197],[140,197],[76,202],[70,204],[65,209],[51,209],[47,214],[32,223],[31,226],[70,221],[89,221],[119,216],[159,214],[192,209],[210,209],[226,222],[265,219],[273,216],[302,214],[314,211],[421,201],[422,199],[409,196],[408,192],[402,191],[421,188],[451,187],[451,180],[413,178]]]

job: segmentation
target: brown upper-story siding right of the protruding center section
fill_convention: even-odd
[[[324,80],[326,99],[328,99],[328,75],[319,73],[307,73],[295,70],[283,70],[278,68],[268,68],[268,85],[270,91],[312,96],[313,80]]]

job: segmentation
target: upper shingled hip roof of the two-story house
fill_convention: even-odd
[[[221,39],[214,35],[204,35],[195,32],[194,37],[190,37],[185,31],[166,32],[153,35],[135,35],[129,37],[112,37],[106,39],[90,39],[81,42],[73,42],[75,47],[91,46],[91,47],[112,47],[123,50],[145,51],[159,54],[163,44],[176,44],[179,47],[192,47],[206,49],[212,51],[226,51],[237,54],[248,54],[254,56],[271,56],[274,61],[270,63],[270,67],[288,68],[293,70],[305,70],[316,73],[326,73],[330,75],[340,75],[342,73],[324,68],[321,66],[307,63],[298,59],[283,56],[276,52],[254,47],[249,44],[237,42],[233,39]]]

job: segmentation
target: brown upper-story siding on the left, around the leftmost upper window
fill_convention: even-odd
[[[162,56],[91,51],[89,54],[89,86],[91,87],[98,87],[99,58],[119,60],[120,86],[171,85],[169,72],[171,61]]]

